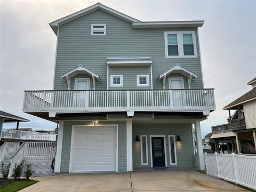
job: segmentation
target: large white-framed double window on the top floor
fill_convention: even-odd
[[[164,33],[165,58],[197,57],[195,31]]]

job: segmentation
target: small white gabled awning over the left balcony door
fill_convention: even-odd
[[[70,79],[77,74],[88,74],[88,75],[92,76],[93,89],[95,90],[95,79],[100,81],[100,76],[95,74],[90,69],[85,68],[83,65],[78,65],[77,67],[75,67],[75,68],[67,71],[65,74],[61,75],[61,78],[63,78],[65,81],[67,81],[68,90],[70,90]]]

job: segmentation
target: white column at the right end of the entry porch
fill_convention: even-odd
[[[198,157],[198,169],[203,171],[203,170],[205,170],[204,151],[203,151],[202,134],[201,134],[201,127],[200,127],[199,120],[195,120],[195,131],[196,131],[196,148],[197,148],[197,157]]]

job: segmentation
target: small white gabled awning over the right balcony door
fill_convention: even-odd
[[[171,69],[165,71],[164,73],[162,73],[161,75],[158,76],[158,81],[163,79],[163,89],[165,89],[165,79],[166,76],[170,75],[171,73],[179,73],[182,74],[186,77],[188,77],[188,87],[190,89],[190,85],[191,85],[191,81],[195,80],[195,78],[197,77],[197,75],[195,73],[193,73],[192,71],[186,69],[185,67],[182,67],[181,65],[179,65],[179,63],[177,63],[174,67],[172,67]]]

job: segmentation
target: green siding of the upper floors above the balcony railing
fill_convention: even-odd
[[[107,35],[91,36],[92,23],[106,23]],[[164,31],[195,31],[198,57],[166,59]],[[101,81],[96,83],[96,89],[106,90],[107,57],[151,57],[154,89],[163,89],[163,82],[157,81],[157,77],[176,63],[197,74],[196,81],[191,83],[191,89],[203,87],[197,28],[133,29],[131,23],[97,10],[61,25],[57,47],[55,90],[67,90],[67,83],[63,81],[61,75],[80,64],[100,75]],[[145,71],[147,68],[145,67]],[[125,70],[123,73],[125,74]],[[131,75],[134,73],[134,76],[138,72],[132,68],[129,73],[130,76],[124,76],[129,81],[124,82],[127,87],[134,84]]]

